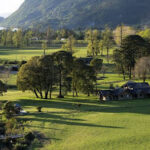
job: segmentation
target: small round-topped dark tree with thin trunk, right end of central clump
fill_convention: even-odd
[[[90,62],[90,65],[93,67],[96,73],[96,94],[97,94],[97,76],[100,73],[103,65],[103,60],[95,58]]]

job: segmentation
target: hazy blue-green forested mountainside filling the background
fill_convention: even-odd
[[[149,19],[149,0],[25,0],[0,25],[35,27],[38,23],[54,28],[100,28],[105,24],[145,24]]]

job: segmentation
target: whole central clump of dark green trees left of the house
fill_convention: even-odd
[[[33,57],[20,68],[17,86],[22,91],[34,92],[37,98],[51,98],[57,87],[59,98],[68,91],[72,91],[73,96],[79,92],[89,96],[94,93],[96,74],[101,66],[102,60],[94,59],[91,65],[86,65],[66,51]]]

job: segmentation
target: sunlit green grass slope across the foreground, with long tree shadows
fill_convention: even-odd
[[[29,92],[10,91],[1,100],[20,103],[29,111],[22,118],[29,130],[45,134],[42,150],[150,149],[149,99],[100,104],[97,97],[84,95],[40,100]],[[43,106],[42,113],[37,106]]]

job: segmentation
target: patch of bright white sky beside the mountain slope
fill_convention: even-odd
[[[15,12],[24,0],[0,0],[0,16],[8,17]]]

